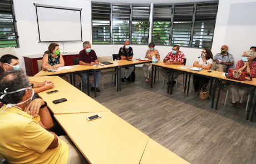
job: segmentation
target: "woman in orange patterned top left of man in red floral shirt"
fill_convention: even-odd
[[[160,54],[158,50],[155,49],[155,44],[151,42],[149,43],[149,49],[147,49],[145,58],[152,59],[153,56],[155,56],[157,60],[160,59]],[[145,82],[149,82],[149,79],[151,78],[151,69],[152,69],[152,63],[143,64],[142,70],[146,79]]]

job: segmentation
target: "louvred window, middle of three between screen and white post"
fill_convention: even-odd
[[[130,40],[130,4],[112,4],[112,42]]]

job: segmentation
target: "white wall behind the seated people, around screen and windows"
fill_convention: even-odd
[[[249,3],[256,2],[256,0],[220,0],[218,15],[216,19],[216,26],[214,32],[214,40],[212,51],[216,54],[220,51],[220,47],[223,44],[229,46],[229,52],[234,55],[237,59],[240,59],[242,52],[249,49],[250,46],[256,45],[256,22],[255,14],[248,14],[247,9],[240,8],[238,12],[234,12],[235,4],[239,3]],[[56,6],[65,7],[75,7],[82,8],[82,37],[83,41],[91,41],[91,2],[84,0],[68,1],[68,0],[26,0],[19,1],[14,0],[14,9],[16,12],[17,28],[19,34],[19,46],[16,48],[19,59],[21,59],[22,67],[24,67],[23,56],[31,54],[42,54],[47,50],[48,43],[38,43],[38,29],[36,20],[36,9],[33,3],[50,4]],[[255,4],[255,3],[254,3]],[[230,13],[230,6],[231,13]],[[233,7],[234,6],[234,7]],[[255,9],[253,11],[256,11]],[[245,13],[247,19],[251,22],[247,24],[248,21],[244,19],[233,19],[239,16],[241,13]],[[230,22],[229,18],[232,18]],[[243,24],[241,24],[243,23]],[[227,24],[229,24],[227,26]],[[65,27],[60,27],[65,28]],[[235,30],[235,31],[234,31]],[[233,33],[235,32],[235,33]],[[62,44],[60,44],[62,48]],[[65,43],[66,52],[76,52],[82,49],[82,43]],[[111,56],[112,53],[118,53],[121,45],[92,45],[92,49],[95,49],[98,56]],[[131,45],[134,49],[134,58],[144,57],[147,50],[147,46]],[[170,46],[156,46],[156,49],[160,52],[160,59],[163,59],[168,52],[171,51]],[[186,48],[181,47],[181,51],[185,53],[187,58],[187,64],[191,65],[195,59],[200,55],[201,49],[198,48]]]

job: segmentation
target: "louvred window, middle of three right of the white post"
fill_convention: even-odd
[[[189,47],[194,4],[175,4],[171,44]]]

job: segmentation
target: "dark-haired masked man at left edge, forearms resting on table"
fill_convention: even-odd
[[[12,54],[4,54],[0,58],[0,67],[3,71],[13,71],[19,70],[19,59]],[[43,82],[30,82],[35,90],[35,93],[40,93],[42,91],[50,90],[54,87],[53,82],[43,81]]]

